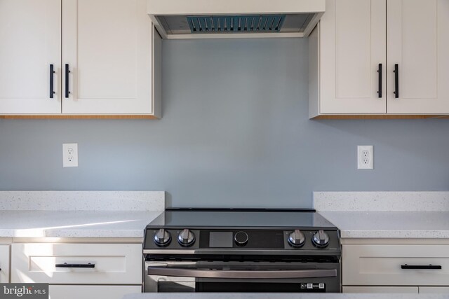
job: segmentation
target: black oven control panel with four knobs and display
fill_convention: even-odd
[[[337,230],[152,229],[144,249],[340,250]]]

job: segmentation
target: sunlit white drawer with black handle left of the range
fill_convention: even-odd
[[[142,284],[141,244],[13,244],[11,282]]]

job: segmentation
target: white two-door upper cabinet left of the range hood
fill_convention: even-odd
[[[161,117],[146,0],[35,2],[0,0],[0,114]]]

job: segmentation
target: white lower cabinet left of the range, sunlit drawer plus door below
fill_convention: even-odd
[[[12,244],[11,282],[48,283],[52,299],[141,293],[142,244]]]

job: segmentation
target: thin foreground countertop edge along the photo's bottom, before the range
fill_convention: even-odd
[[[145,293],[123,299],[446,299],[449,294],[356,294],[356,293]]]

